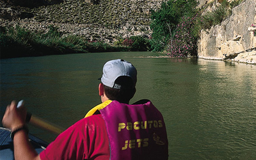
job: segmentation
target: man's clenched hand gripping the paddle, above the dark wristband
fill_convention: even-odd
[[[17,108],[17,104],[15,100],[13,100],[12,103],[6,108],[2,124],[4,127],[14,131],[15,129],[26,124],[26,115],[26,108],[24,106]]]

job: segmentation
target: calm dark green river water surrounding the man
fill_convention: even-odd
[[[104,63],[123,58],[138,69],[131,102],[150,99],[163,113],[169,159],[256,158],[256,66],[150,58],[152,52],[68,54],[1,60],[1,118],[13,99],[67,128],[100,103]],[[56,137],[32,125],[46,141]]]

